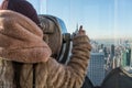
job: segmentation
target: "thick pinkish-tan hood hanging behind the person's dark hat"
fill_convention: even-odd
[[[0,11],[0,56],[21,63],[46,62],[51,48],[43,32],[29,18],[9,10]]]

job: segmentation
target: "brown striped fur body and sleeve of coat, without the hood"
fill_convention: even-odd
[[[19,40],[21,41],[21,38],[18,38],[18,41]],[[20,46],[21,46],[21,43],[20,43]],[[20,46],[15,46],[15,47],[20,47]],[[12,48],[11,46],[9,47]],[[30,50],[30,48],[26,48],[26,50]],[[0,85],[0,86],[2,86],[2,88],[33,88],[33,86],[34,88],[80,88],[87,73],[90,50],[91,50],[91,46],[89,44],[89,38],[87,37],[87,35],[79,35],[74,37],[73,40],[72,56],[67,65],[59,64],[55,61],[55,58],[52,58],[52,57],[48,57],[47,62],[37,63],[34,67],[35,70],[33,69],[33,64],[32,64],[33,61],[31,63],[29,62],[26,64],[23,64],[20,73],[20,81],[18,81],[20,82],[20,87],[15,87],[15,84],[11,80],[14,78],[13,72],[11,72],[11,74],[9,72],[12,69],[12,64],[7,62],[8,66],[10,67],[9,69],[9,68],[6,68],[7,66],[2,63],[1,68],[4,68],[4,70],[1,74],[2,77],[0,76],[0,82],[2,82],[3,85]],[[18,51],[21,51],[21,50],[18,50]],[[1,62],[4,61],[4,56],[2,56],[2,54],[1,54],[1,57],[2,57],[0,58]],[[12,57],[13,57],[13,54],[12,54]],[[7,59],[12,61],[14,58],[7,57]],[[33,76],[33,70],[35,73],[35,76]],[[7,77],[7,74],[9,75],[8,77]],[[33,81],[35,81],[35,84],[33,84]],[[10,82],[9,86],[8,86],[8,82]]]

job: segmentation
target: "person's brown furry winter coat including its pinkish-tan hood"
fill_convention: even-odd
[[[11,24],[13,25],[12,28],[15,29],[8,28],[10,32],[6,31],[7,28],[2,26],[4,24],[7,25],[10,21],[10,19],[4,18],[7,16],[6,14],[10,18],[14,18],[13,15],[15,15],[15,19],[13,19],[15,20],[14,25],[13,22]],[[0,16],[6,19],[0,18],[0,24],[3,28],[3,31],[0,30],[0,86],[2,88],[80,88],[82,86],[91,50],[87,35],[79,35],[73,38],[70,61],[67,65],[63,65],[50,56],[51,51],[48,46],[46,43],[41,41],[41,38],[43,38],[40,35],[42,31],[35,30],[38,28],[32,28],[32,30],[35,31],[30,29],[32,24],[35,23],[12,11],[0,11]],[[22,25],[16,18],[21,19],[21,22],[25,22],[28,20],[26,23],[29,25]],[[7,20],[9,21],[2,24]],[[18,23],[18,25],[15,25],[15,23]],[[10,22],[8,25],[10,25]],[[22,25],[22,28],[19,28],[19,25]],[[8,37],[2,37],[1,35],[3,34],[6,36],[8,35]],[[25,35],[23,36],[22,34]],[[32,34],[34,35],[32,36]],[[12,41],[9,38],[12,38]],[[3,43],[10,44],[2,44],[1,42],[3,40],[7,41]],[[26,46],[26,44],[29,45]],[[3,47],[11,48],[13,52],[4,50]],[[23,52],[23,47],[26,50],[25,52]],[[34,50],[35,53],[31,52]],[[41,51],[41,53],[37,50],[43,51]],[[22,64],[21,70],[19,72],[19,79],[15,78],[16,70],[13,68],[12,61]],[[14,82],[15,79],[18,79],[19,85]]]

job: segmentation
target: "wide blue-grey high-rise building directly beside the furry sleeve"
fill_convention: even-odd
[[[106,61],[103,53],[91,53],[87,75],[94,86],[100,86],[105,79],[105,64]]]

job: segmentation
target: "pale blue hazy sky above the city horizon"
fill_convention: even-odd
[[[1,0],[0,0],[1,1]],[[68,32],[82,24],[91,38],[132,37],[132,0],[28,0],[37,13],[52,14]]]

